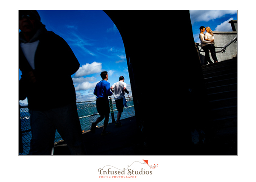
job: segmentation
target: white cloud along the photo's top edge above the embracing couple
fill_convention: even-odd
[[[236,14],[237,10],[190,10],[190,18],[192,25],[195,22],[214,20],[225,14]]]

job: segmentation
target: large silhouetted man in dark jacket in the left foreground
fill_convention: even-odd
[[[28,98],[29,154],[50,155],[56,129],[72,155],[86,154],[71,78],[80,65],[76,56],[65,40],[47,31],[37,11],[19,11],[19,29],[19,100]]]

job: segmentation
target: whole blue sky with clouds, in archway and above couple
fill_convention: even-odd
[[[64,38],[79,60],[80,68],[72,75],[77,102],[96,99],[93,90],[102,80],[101,71],[108,71],[111,85],[124,76],[132,96],[122,37],[104,11],[39,10],[38,13],[47,30]],[[209,26],[213,31],[232,31],[228,21],[237,20],[237,11],[193,10],[190,17],[194,40],[199,43],[200,26]],[[19,71],[19,79],[20,75]],[[58,92],[62,92],[61,88]],[[20,102],[27,105],[27,100]]]

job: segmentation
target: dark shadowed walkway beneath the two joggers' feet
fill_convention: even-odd
[[[107,131],[110,134],[101,135],[102,127],[96,128],[95,134],[84,132],[84,145],[88,155],[137,155],[135,151],[137,143],[136,119],[130,117],[120,120],[121,127],[114,123],[108,124]],[[54,155],[70,155],[65,142],[58,142],[54,147]]]

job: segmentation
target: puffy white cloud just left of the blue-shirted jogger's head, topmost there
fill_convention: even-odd
[[[101,71],[102,71],[102,63],[97,63],[94,61],[91,64],[86,63],[85,65],[82,65],[82,67],[79,67],[74,77],[82,77],[82,76],[86,76],[94,73],[99,73]]]

